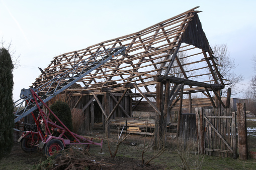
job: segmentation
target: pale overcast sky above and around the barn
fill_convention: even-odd
[[[256,1],[0,0],[0,37],[20,54],[14,99],[40,75],[37,67],[46,68],[54,56],[140,31],[197,6],[210,45],[227,44],[246,86],[256,74]]]

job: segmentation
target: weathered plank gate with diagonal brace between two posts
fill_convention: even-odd
[[[231,113],[229,109],[205,109],[202,115],[205,154],[235,158],[235,113]]]

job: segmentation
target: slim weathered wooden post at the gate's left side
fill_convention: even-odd
[[[196,107],[198,151],[204,154],[204,113],[202,107]]]

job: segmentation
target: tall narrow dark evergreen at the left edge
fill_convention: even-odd
[[[5,48],[0,48],[0,159],[13,147],[13,62]]]

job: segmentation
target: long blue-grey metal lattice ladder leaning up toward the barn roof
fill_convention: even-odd
[[[74,65],[65,72],[57,75],[56,77],[41,85],[37,89],[22,89],[20,94],[21,98],[14,102],[14,107],[17,108],[14,122],[16,123],[17,121],[21,120],[23,117],[27,116],[28,114],[37,109],[36,102],[32,100],[34,98],[31,94],[30,89],[35,91],[43,100],[43,102],[46,103],[54,96],[67,89],[84,76],[88,75],[101,65],[105,64],[113,57],[119,54],[124,55],[125,49],[126,47],[117,47],[111,49],[108,48],[104,51],[99,51],[92,56],[80,61],[78,64]],[[54,88],[52,88],[53,84],[57,84],[57,86],[54,85]],[[26,102],[29,104],[26,105]],[[39,106],[42,105],[39,100],[38,104]],[[23,105],[26,105],[26,107],[22,109]]]

